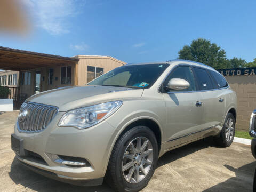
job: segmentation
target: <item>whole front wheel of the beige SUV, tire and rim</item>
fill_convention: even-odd
[[[137,147],[139,140],[141,148]],[[135,126],[117,140],[109,159],[106,182],[119,192],[139,191],[147,186],[153,176],[157,159],[158,146],[155,134],[146,126]]]

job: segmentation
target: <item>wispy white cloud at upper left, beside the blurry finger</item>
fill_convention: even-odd
[[[69,33],[70,17],[79,13],[85,1],[22,0],[35,17],[36,25],[52,35]]]

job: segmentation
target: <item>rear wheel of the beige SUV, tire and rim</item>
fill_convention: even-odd
[[[233,122],[232,126],[230,126],[230,124],[231,124],[230,122]],[[228,115],[225,119],[225,122],[223,124],[223,127],[220,131],[219,137],[214,138],[214,140],[221,147],[229,147],[234,140],[235,131],[236,131],[235,117],[233,114],[228,113]],[[232,136],[231,136],[231,134],[232,134]],[[228,137],[227,137],[227,135],[228,135]]]

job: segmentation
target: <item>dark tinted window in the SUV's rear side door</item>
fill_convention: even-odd
[[[205,69],[194,67],[194,72],[199,90],[213,89],[211,78]]]

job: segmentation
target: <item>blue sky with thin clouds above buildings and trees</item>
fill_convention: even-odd
[[[227,58],[256,58],[256,1],[22,0],[32,30],[1,34],[0,46],[62,56],[166,61],[206,38]]]

